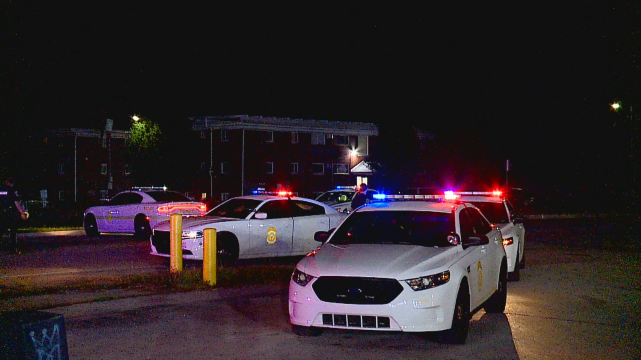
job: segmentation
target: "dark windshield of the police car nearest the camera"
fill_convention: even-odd
[[[451,213],[428,211],[363,211],[345,219],[332,236],[333,245],[394,244],[451,247],[454,231]]]

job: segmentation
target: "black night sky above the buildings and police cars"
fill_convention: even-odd
[[[231,3],[3,1],[3,124],[394,121],[529,186],[631,184],[641,3]]]

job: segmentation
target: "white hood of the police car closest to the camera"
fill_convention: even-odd
[[[433,248],[411,245],[331,245],[299,263],[299,270],[314,277],[351,276],[412,279],[446,270],[460,247]]]

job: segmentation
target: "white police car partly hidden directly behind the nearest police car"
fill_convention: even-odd
[[[508,279],[520,280],[520,270],[525,268],[525,227],[516,217],[514,208],[503,197],[503,192],[452,192],[462,202],[469,202],[481,210],[488,220],[501,229],[503,247],[508,256]]]

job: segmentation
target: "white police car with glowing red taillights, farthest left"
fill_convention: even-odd
[[[125,233],[148,239],[151,229],[172,214],[197,217],[204,213],[205,204],[167,188],[133,188],[118,193],[103,206],[88,208],[83,224],[87,236]]]

